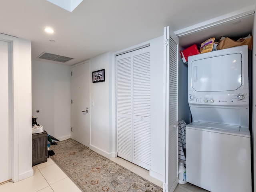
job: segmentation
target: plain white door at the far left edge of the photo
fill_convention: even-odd
[[[0,40],[0,135],[2,145],[0,158],[0,184],[11,180],[11,142],[10,142],[10,42]]]

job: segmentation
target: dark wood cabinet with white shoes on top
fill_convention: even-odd
[[[47,132],[32,134],[32,166],[47,162]]]

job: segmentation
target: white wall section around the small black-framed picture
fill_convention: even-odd
[[[105,69],[105,82],[92,83],[90,78],[90,148],[108,158],[112,157],[111,56],[111,53],[105,53],[90,59],[90,75]]]

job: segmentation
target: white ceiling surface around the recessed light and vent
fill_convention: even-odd
[[[47,0],[5,0],[0,6],[0,33],[30,40],[32,60],[47,52],[74,58],[64,63],[72,65],[162,36],[165,26],[177,31],[254,4],[255,0],[83,0],[69,12]],[[251,30],[253,17],[245,21]],[[246,34],[245,26],[235,28]],[[46,27],[54,33],[44,32]],[[201,39],[183,36],[180,44],[215,35],[203,34]]]

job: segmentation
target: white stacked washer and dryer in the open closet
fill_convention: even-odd
[[[211,192],[251,192],[248,46],[188,57],[187,181]]]

